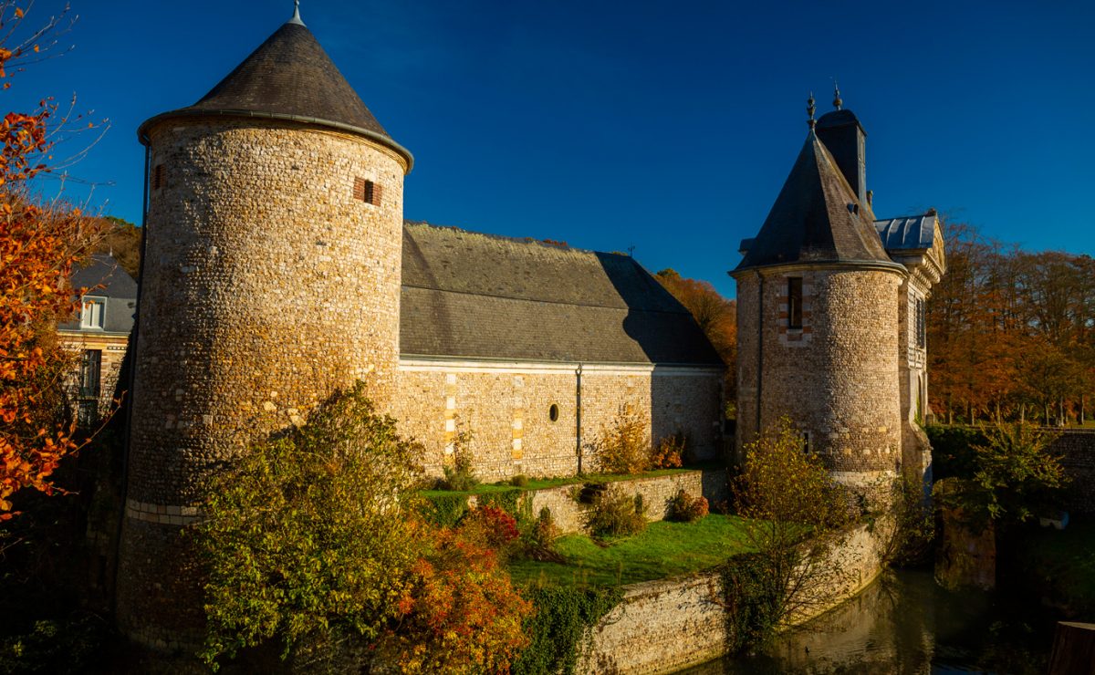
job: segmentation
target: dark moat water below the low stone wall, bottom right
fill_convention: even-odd
[[[756,653],[688,675],[1042,674],[1057,619],[1022,589],[950,593],[931,571],[889,572]]]

